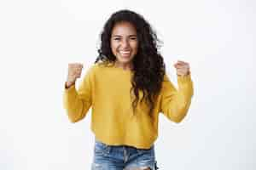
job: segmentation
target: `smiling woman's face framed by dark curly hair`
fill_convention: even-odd
[[[113,26],[111,49],[120,64],[129,64],[137,54],[137,31],[129,22],[119,22]]]

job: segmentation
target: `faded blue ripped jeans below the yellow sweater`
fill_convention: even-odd
[[[91,170],[130,170],[149,167],[156,170],[154,144],[148,150],[126,145],[103,144],[96,139]]]

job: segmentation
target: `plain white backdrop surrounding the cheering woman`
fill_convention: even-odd
[[[1,1],[0,169],[90,169],[90,112],[71,123],[62,105],[67,65],[83,63],[84,76],[103,24],[123,8],[143,14],[164,42],[160,52],[176,86],[173,64],[191,66],[188,116],[174,123],[160,114],[158,167],[255,169],[253,0]]]

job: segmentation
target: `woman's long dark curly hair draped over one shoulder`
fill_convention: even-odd
[[[158,51],[160,40],[142,15],[123,9],[110,16],[101,33],[101,46],[98,49],[99,55],[95,63],[98,61],[103,61],[103,63],[115,61],[116,57],[111,50],[110,37],[113,26],[122,21],[127,21],[136,28],[138,39],[138,51],[132,59],[134,74],[131,80],[132,88],[130,92],[133,90],[136,97],[132,101],[132,108],[135,112],[137,102],[139,100],[142,102],[145,99],[146,104],[149,105],[148,114],[152,116],[154,99],[160,94],[166,66]],[[143,92],[142,99],[139,99],[139,90]]]

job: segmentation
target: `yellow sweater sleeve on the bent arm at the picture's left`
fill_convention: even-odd
[[[71,122],[79,122],[87,114],[92,104],[93,69],[86,72],[76,90],[75,85],[64,89],[63,105]]]

